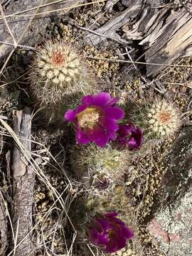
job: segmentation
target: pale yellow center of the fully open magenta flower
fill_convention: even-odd
[[[101,111],[96,107],[88,107],[78,114],[78,122],[81,128],[92,129],[101,117]]]

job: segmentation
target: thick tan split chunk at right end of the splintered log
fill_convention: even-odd
[[[144,26],[144,21],[141,24]],[[151,28],[144,28],[144,32],[144,39],[139,44],[144,45],[146,63],[171,64],[186,55],[191,47],[192,16],[182,7],[179,11],[172,10],[169,16],[166,11]],[[157,75],[163,69],[162,66],[146,65],[146,75]]]

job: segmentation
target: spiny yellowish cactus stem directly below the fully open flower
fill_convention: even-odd
[[[129,163],[129,151],[118,151],[108,145],[98,148],[94,144],[83,148],[75,145],[70,152],[71,169],[81,180],[104,174],[110,180],[121,181]]]

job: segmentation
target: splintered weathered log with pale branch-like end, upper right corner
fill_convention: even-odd
[[[183,55],[192,55],[192,3],[182,2],[172,5],[159,0],[122,0],[127,9],[89,33],[85,40],[93,45],[107,38],[121,43],[135,40],[143,46],[146,63],[160,64],[146,65],[146,75],[158,75],[165,68],[162,64],[170,65]],[[117,33],[119,28],[124,38]]]

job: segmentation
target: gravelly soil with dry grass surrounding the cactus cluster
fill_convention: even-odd
[[[34,183],[31,213],[34,228],[30,237],[36,248],[36,256],[107,255],[87,241],[84,225],[96,211],[113,208],[118,210],[122,220],[135,233],[135,238],[127,243],[127,247],[114,255],[169,255],[161,247],[161,241],[151,234],[149,223],[158,212],[159,201],[163,198],[161,193],[170,169],[166,156],[169,156],[181,130],[192,124],[192,57],[181,56],[157,75],[147,76],[145,51],[139,45],[139,40],[127,40],[127,45],[110,38],[105,38],[97,45],[89,43],[86,36],[92,33],[90,31],[95,31],[127,9],[125,2],[107,1],[111,8],[106,7],[106,2],[89,6],[82,4],[67,14],[53,14],[46,24],[46,33],[43,36],[39,34],[33,47],[41,48],[48,40],[63,40],[72,44],[85,58],[86,65],[92,70],[93,79],[100,88],[119,97],[120,105],[123,106],[129,100],[139,105],[155,97],[164,97],[169,102],[174,102],[180,110],[182,127],[164,143],[132,156],[127,163],[126,172],[121,176],[121,182],[112,188],[107,197],[103,195],[99,198],[92,191],[85,191],[80,178],[75,174],[74,170],[80,168],[78,164],[84,151],[81,154],[81,148],[75,149],[73,129],[62,118],[58,122],[49,123],[45,112],[40,110],[38,102],[31,95],[28,76],[35,50],[16,48],[0,78],[0,117],[14,129],[13,111],[23,110],[25,107],[30,107],[32,111],[31,155],[39,169],[36,169]],[[172,2],[174,1],[170,1]],[[165,1],[161,8],[167,4],[169,1]],[[117,33],[126,40],[124,28],[119,28]],[[143,57],[139,58],[141,55]],[[7,55],[1,61],[1,67],[6,57]],[[126,62],[138,58],[144,64]],[[15,139],[4,122],[1,122],[0,127],[0,203],[4,205],[6,216],[6,250],[3,251],[0,246],[0,255],[14,255],[10,254],[13,249],[10,220],[14,207],[11,154]],[[2,239],[2,234],[0,238]]]

